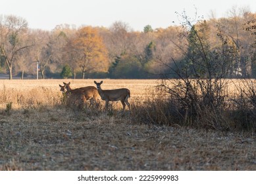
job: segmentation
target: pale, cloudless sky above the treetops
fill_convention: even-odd
[[[29,28],[53,30],[59,24],[104,26],[125,22],[134,31],[143,31],[146,25],[155,28],[178,24],[175,12],[186,11],[193,17],[217,18],[227,16],[232,7],[246,7],[256,12],[255,0],[1,0],[0,14],[20,16]]]

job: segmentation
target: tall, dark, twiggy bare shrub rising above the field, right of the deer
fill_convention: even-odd
[[[229,129],[229,120],[224,111],[228,75],[234,59],[234,48],[229,38],[222,35],[217,27],[220,47],[212,49],[207,32],[207,22],[193,20],[182,14],[184,30],[180,37],[185,37],[188,47],[178,43],[178,51],[183,53],[180,60],[155,61],[165,66],[163,87],[172,102],[176,102],[176,110],[182,115],[184,122],[194,127],[210,127],[214,129]],[[175,78],[176,80],[173,80]],[[182,118],[181,118],[182,119]]]

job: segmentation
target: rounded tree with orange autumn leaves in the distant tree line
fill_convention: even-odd
[[[91,26],[80,28],[70,41],[70,58],[82,72],[106,72],[109,66],[107,49],[103,39]]]

